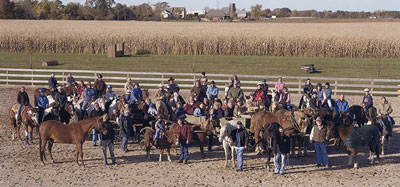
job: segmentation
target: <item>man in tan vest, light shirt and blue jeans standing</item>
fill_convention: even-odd
[[[320,117],[317,117],[315,122],[317,125],[315,125],[311,130],[310,143],[314,142],[315,153],[317,157],[317,167],[325,166],[328,168],[329,161],[325,144],[327,129],[325,125],[322,124],[322,119]],[[324,162],[324,165],[322,165],[322,161]]]

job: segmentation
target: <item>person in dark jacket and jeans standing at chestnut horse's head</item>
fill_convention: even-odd
[[[103,160],[104,164],[107,165],[107,149],[110,151],[110,157],[111,157],[111,164],[114,165],[116,164],[115,162],[115,156],[114,156],[114,128],[112,124],[108,121],[108,115],[103,116],[103,120],[105,121],[104,126],[106,128],[106,133],[100,134],[100,139],[101,139],[101,148],[103,150]]]

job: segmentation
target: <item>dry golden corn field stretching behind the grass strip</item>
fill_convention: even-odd
[[[399,22],[178,23],[1,20],[0,51],[400,58]]]

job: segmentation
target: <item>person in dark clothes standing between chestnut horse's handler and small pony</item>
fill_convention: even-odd
[[[122,151],[128,152],[128,139],[132,132],[132,120],[129,117],[130,111],[124,110],[119,120],[119,135],[122,137]]]

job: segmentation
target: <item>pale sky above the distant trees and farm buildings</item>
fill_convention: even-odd
[[[84,4],[85,0],[61,0],[64,4],[76,2]],[[400,11],[399,0],[115,0],[116,3],[126,5],[139,5],[142,3],[154,4],[166,1],[172,7],[186,7],[187,10],[202,10],[204,7],[222,8],[229,3],[236,3],[237,9],[250,7],[256,4],[263,5],[263,9],[288,7],[292,10],[345,10],[345,11],[376,11],[397,10]]]

